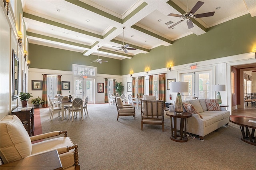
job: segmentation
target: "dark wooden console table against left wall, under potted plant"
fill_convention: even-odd
[[[34,105],[28,104],[27,107],[18,106],[12,111],[12,115],[16,115],[20,118],[26,128],[29,136],[34,136]]]

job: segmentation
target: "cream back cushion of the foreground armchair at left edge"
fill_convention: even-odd
[[[13,162],[29,156],[32,151],[32,144],[20,119],[16,115],[8,115],[3,117],[0,122],[0,145],[3,162]]]

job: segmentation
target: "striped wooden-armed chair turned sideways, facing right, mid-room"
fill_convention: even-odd
[[[115,98],[115,101],[116,101],[116,109],[117,109],[116,121],[118,121],[118,118],[120,116],[133,116],[135,121],[135,107],[133,105],[124,105],[120,97]]]

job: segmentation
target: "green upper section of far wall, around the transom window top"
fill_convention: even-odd
[[[72,71],[72,64],[80,64],[97,67],[97,73],[121,75],[121,60],[100,56],[108,63],[91,63],[90,59],[97,58],[97,55],[84,56],[80,52],[29,44],[31,68]]]

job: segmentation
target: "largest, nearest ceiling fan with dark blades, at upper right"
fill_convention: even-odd
[[[202,18],[202,17],[208,17],[208,16],[213,16],[215,12],[207,12],[207,13],[202,13],[202,14],[195,14],[195,12],[204,4],[204,2],[198,1],[196,3],[196,5],[192,8],[192,10],[190,12],[186,12],[183,15],[179,15],[179,14],[169,14],[168,16],[176,16],[176,17],[181,17],[182,20],[180,20],[179,22],[176,22],[175,24],[173,24],[172,26],[168,27],[168,28],[172,28],[178,24],[180,24],[182,21],[187,20],[187,25],[188,25],[188,29],[193,28],[193,23],[191,18]],[[188,5],[187,5],[187,11],[188,11]]]

